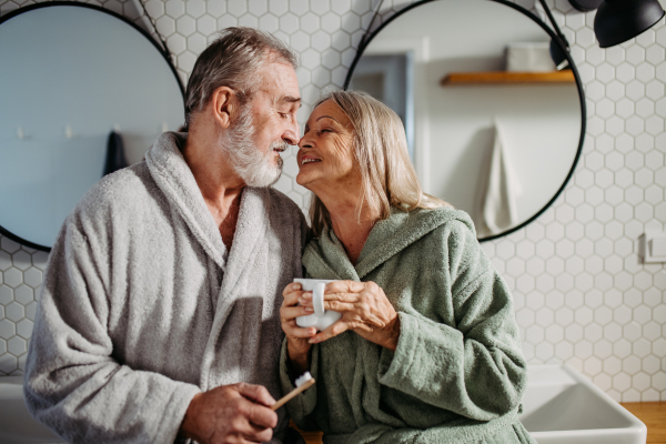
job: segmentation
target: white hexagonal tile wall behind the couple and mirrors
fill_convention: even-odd
[[[0,0],[0,14],[32,0]],[[89,1],[152,33],[135,0]],[[412,1],[386,0],[373,28]],[[545,18],[534,0],[517,4]],[[273,32],[301,56],[303,124],[317,98],[341,87],[372,17],[370,0],[149,0],[147,10],[186,81],[216,30]],[[564,192],[527,228],[483,243],[515,299],[531,363],[567,363],[614,398],[666,400],[666,268],[644,264],[638,239],[666,230],[666,26],[602,50],[594,12],[548,0],[584,82],[588,124]],[[279,190],[303,210],[295,150],[285,152]],[[20,374],[47,254],[0,238],[0,374]]]

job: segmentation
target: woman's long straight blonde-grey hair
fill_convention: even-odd
[[[315,108],[329,100],[342,109],[354,130],[352,149],[361,170],[359,218],[363,205],[379,212],[381,220],[391,215],[391,206],[405,211],[450,206],[423,192],[410,160],[403,123],[391,108],[361,91],[327,93]],[[316,194],[312,194],[310,221],[315,235],[331,226],[329,210]]]

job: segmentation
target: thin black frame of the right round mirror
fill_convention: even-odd
[[[421,0],[421,1],[414,2],[414,3],[405,7],[404,9],[401,9],[400,11],[397,11],[396,13],[391,16],[386,21],[384,21],[377,29],[375,29],[367,39],[363,40],[363,42],[359,47],[359,50],[356,51],[356,57],[354,58],[354,61],[352,62],[352,65],[350,67],[350,70],[347,71],[347,75],[346,75],[346,79],[344,80],[343,89],[347,90],[350,82],[352,80],[352,75],[354,74],[354,68],[356,68],[359,60],[361,60],[361,57],[363,57],[363,52],[365,51],[365,49],[367,48],[370,42],[372,42],[372,40],[386,26],[389,26],[389,23],[391,23],[393,20],[397,19],[400,16],[404,14],[405,12],[411,11],[414,8],[418,8],[422,4],[431,3],[433,1],[437,1],[437,0]],[[574,170],[576,169],[576,165],[578,164],[578,160],[581,159],[581,154],[583,153],[583,144],[585,142],[585,131],[586,131],[586,127],[587,127],[587,108],[585,104],[585,91],[583,89],[583,82],[581,81],[581,75],[578,74],[578,70],[576,69],[574,59],[572,58],[572,54],[567,51],[566,46],[564,44],[562,39],[559,39],[557,37],[557,34],[541,18],[538,18],[536,14],[528,11],[527,9],[525,9],[518,4],[512,3],[507,0],[487,0],[487,1],[494,1],[496,3],[507,6],[509,8],[515,9],[516,11],[523,13],[527,18],[532,19],[535,23],[537,23],[539,27],[542,27],[543,30],[546,31],[546,33],[551,37],[552,41],[556,42],[556,44],[561,48],[562,52],[565,54],[566,60],[569,63],[567,69],[571,69],[572,72],[574,73],[574,78],[576,80],[576,88],[578,89],[578,97],[581,99],[581,139],[578,142],[578,150],[576,152],[576,157],[574,158],[572,168],[571,168],[568,174],[566,175],[566,178],[564,179],[562,186],[559,186],[557,192],[555,192],[555,195],[553,195],[553,198],[539,211],[537,211],[536,214],[534,214],[532,218],[527,219],[525,222],[523,222],[514,228],[511,228],[502,233],[482,238],[478,240],[478,242],[494,241],[495,239],[500,239],[500,238],[503,238],[511,233],[514,233],[518,230],[522,230],[523,228],[525,228],[526,225],[528,225],[529,223],[532,223],[536,219],[538,219],[538,216],[541,216],[551,205],[553,205],[553,203],[557,200],[557,198],[559,198],[559,194],[562,194],[562,192],[566,188],[567,183],[574,175]]]

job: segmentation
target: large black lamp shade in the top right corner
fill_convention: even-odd
[[[648,30],[662,17],[658,0],[605,0],[594,19],[594,33],[599,47],[614,47]]]

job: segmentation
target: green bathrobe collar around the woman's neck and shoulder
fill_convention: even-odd
[[[465,223],[475,233],[472,219],[463,211],[440,208],[407,212],[393,206],[389,219],[379,221],[370,232],[355,266],[333,230],[324,228],[320,238],[305,248],[303,266],[307,274],[319,279],[361,281],[389,259],[452,220]]]

